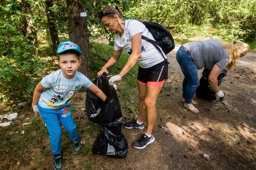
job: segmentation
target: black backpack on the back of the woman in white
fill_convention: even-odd
[[[172,38],[171,33],[163,25],[161,25],[160,23],[149,22],[149,21],[140,21],[140,22],[142,22],[146,26],[146,28],[153,35],[156,41],[149,39],[144,35],[142,35],[142,39],[154,45],[154,47],[156,47],[156,49],[158,49],[158,51],[160,51],[161,54],[162,54],[161,49],[163,50],[165,55],[170,53],[170,51],[174,49],[175,47],[174,39]],[[158,46],[161,47],[161,49]],[[162,56],[164,57],[163,54]],[[165,59],[165,61],[168,64],[170,64],[167,61],[167,59]]]

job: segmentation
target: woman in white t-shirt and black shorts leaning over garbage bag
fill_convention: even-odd
[[[142,39],[142,35],[144,35],[154,40],[154,37],[143,23],[137,20],[122,20],[122,12],[117,5],[104,7],[99,16],[106,30],[115,33],[116,37],[114,53],[102,67],[102,70],[98,72],[98,76],[102,75],[103,72],[108,73],[107,69],[118,61],[123,49],[130,54],[130,57],[121,72],[110,78],[110,85],[121,80],[137,61],[139,63],[137,76],[140,98],[139,115],[136,120],[124,123],[124,127],[127,129],[132,129],[133,127],[143,129],[146,117],[146,132],[132,143],[133,147],[144,149],[155,140],[152,130],[156,123],[156,98],[164,80],[167,79],[168,64],[164,59],[166,56],[162,57],[162,54],[154,45]]]

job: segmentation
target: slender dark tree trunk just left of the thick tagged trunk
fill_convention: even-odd
[[[60,41],[58,37],[58,29],[56,29],[54,25],[54,20],[56,20],[56,16],[54,12],[52,12],[51,10],[52,6],[53,6],[52,0],[46,0],[47,21],[48,21],[50,35],[52,39],[52,52],[53,52],[53,55],[56,55]]]

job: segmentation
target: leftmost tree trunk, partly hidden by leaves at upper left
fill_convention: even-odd
[[[36,31],[34,29],[34,26],[33,26],[33,21],[31,18],[29,18],[30,16],[30,4],[28,4],[26,2],[26,0],[22,0],[20,2],[20,7],[22,8],[22,13],[23,14],[27,14],[27,17],[24,18],[23,22],[24,22],[24,28],[22,29],[22,32],[23,32],[23,35],[26,36],[26,35],[34,35],[33,37],[28,37],[28,39],[30,40],[30,44],[32,45],[37,45],[37,39],[36,39]]]

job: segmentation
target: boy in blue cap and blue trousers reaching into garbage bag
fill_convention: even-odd
[[[78,72],[81,55],[82,52],[75,43],[60,43],[57,49],[60,69],[45,76],[34,89],[32,107],[35,113],[40,113],[48,129],[55,170],[63,168],[59,121],[70,135],[74,152],[81,149],[76,124],[71,116],[70,99],[80,88],[86,87],[101,100],[106,100],[106,95],[84,74]]]

